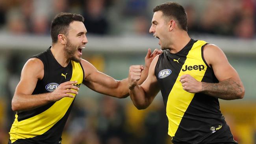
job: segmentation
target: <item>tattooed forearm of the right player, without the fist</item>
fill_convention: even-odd
[[[219,83],[202,82],[202,93],[223,100],[234,100],[243,98],[245,91],[240,83],[229,78]]]

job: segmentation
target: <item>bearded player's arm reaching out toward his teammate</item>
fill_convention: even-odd
[[[151,50],[148,49],[147,56],[145,57],[145,68],[140,65],[130,67],[132,70],[141,72],[141,79],[139,79],[140,84],[145,81],[148,76],[148,67],[152,59],[160,53],[161,51],[156,49],[151,54]],[[126,98],[129,96],[128,78],[119,81],[102,72],[99,72],[91,63],[85,61],[84,59],[81,60],[81,63],[85,70],[85,79],[83,84],[85,84],[87,87],[101,94],[106,94],[108,96],[117,98]]]

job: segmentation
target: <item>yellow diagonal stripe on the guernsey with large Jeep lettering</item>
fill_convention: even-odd
[[[206,71],[206,64],[202,60],[201,55],[201,47],[206,44],[204,41],[197,41],[193,44],[193,47],[187,54],[187,59],[182,66],[182,69],[185,69],[185,66],[194,66],[194,65],[204,65],[204,70],[187,70],[185,72],[180,70],[179,76],[176,79],[176,82],[173,85],[173,89],[171,90],[168,100],[167,100],[167,107],[166,107],[166,115],[169,120],[169,127],[168,127],[168,134],[171,137],[175,136],[175,133],[180,125],[180,121],[184,116],[184,113],[189,106],[189,103],[194,97],[194,93],[186,92],[182,89],[182,84],[180,83],[180,77],[184,74],[189,74],[193,78],[197,79],[197,81],[201,81],[204,77]]]

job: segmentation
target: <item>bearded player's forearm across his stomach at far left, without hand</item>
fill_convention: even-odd
[[[46,105],[51,102],[48,100],[49,94],[50,93],[35,95],[15,94],[11,102],[12,109],[13,111],[24,111]]]

